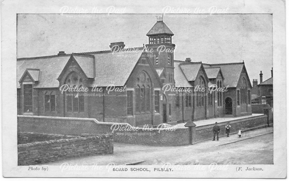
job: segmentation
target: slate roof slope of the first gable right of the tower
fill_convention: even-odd
[[[195,81],[198,72],[202,66],[201,62],[196,63],[183,63],[179,65],[184,75],[188,79],[188,81]]]

